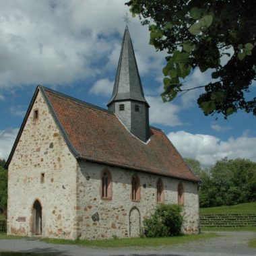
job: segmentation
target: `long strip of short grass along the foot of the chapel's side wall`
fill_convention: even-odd
[[[158,246],[173,246],[193,241],[215,238],[219,236],[214,233],[207,234],[190,234],[183,236],[161,237],[161,238],[125,238],[125,239],[106,239],[106,240],[65,240],[65,239],[52,239],[42,238],[46,243],[62,244],[62,245],[80,245],[87,247],[158,247]]]

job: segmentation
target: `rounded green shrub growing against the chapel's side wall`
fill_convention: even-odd
[[[154,214],[143,221],[147,237],[176,236],[181,234],[183,216],[180,205],[158,205]]]

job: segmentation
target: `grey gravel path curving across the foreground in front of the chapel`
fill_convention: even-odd
[[[95,249],[76,245],[53,245],[38,240],[0,240],[0,251],[56,253],[72,256],[255,256],[256,249],[248,247],[255,232],[216,232],[222,237],[194,241],[174,247]]]

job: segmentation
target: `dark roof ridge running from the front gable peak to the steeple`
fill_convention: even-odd
[[[82,105],[82,106],[86,106],[88,108],[93,108],[94,110],[98,110],[101,112],[104,112],[106,114],[110,114],[110,115],[114,115],[114,113],[106,108],[101,108],[100,106],[96,106],[94,104],[88,103],[84,100],[79,100],[78,98],[74,98],[72,96],[69,96],[67,94],[63,94],[61,92],[57,92],[51,88],[47,88],[44,86],[39,86],[40,88],[42,88],[42,90],[44,90],[44,92],[49,92],[51,94],[55,94],[55,96],[59,97],[59,98],[63,98],[64,100],[69,100],[71,102],[75,102],[76,104]]]

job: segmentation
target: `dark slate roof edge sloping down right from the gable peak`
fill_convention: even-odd
[[[63,135],[63,138],[65,140],[65,142],[67,143],[67,146],[69,148],[69,150],[71,151],[71,153],[73,154],[73,156],[75,156],[75,158],[79,158],[80,155],[79,153],[77,152],[77,150],[75,150],[75,148],[73,147],[73,144],[71,143],[70,139],[69,139],[69,136],[67,135],[65,129],[63,128],[63,125],[61,125],[61,122],[59,121],[56,113],[55,113],[55,110],[49,100],[49,98],[47,97],[46,93],[44,90],[49,90],[48,88],[44,88],[42,86],[39,86],[39,90],[40,92],[42,93],[42,96],[47,104],[47,106],[49,107],[49,110],[50,110],[50,113],[55,121],[55,123],[57,124],[57,126],[59,127],[59,130],[61,131],[61,134]]]

